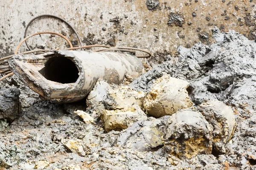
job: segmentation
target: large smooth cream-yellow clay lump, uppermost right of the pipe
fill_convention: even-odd
[[[188,87],[188,82],[168,74],[157,79],[144,100],[146,113],[149,116],[161,117],[191,107],[193,103],[186,90]]]

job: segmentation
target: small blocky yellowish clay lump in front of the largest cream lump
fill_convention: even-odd
[[[147,119],[146,114],[136,104],[122,110],[102,110],[101,120],[107,132],[123,130],[139,120]]]

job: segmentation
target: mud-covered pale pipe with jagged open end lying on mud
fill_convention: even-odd
[[[41,98],[66,103],[83,99],[99,78],[120,84],[125,74],[139,77],[143,65],[135,55],[117,52],[52,51],[15,55],[9,67]]]

